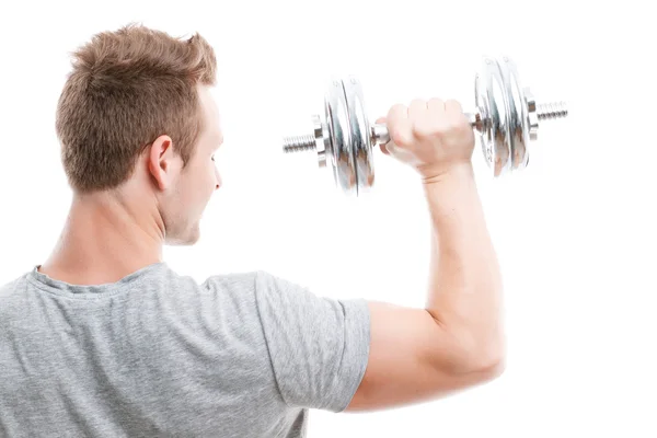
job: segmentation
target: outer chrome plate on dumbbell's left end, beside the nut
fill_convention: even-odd
[[[356,166],[351,151],[351,132],[349,114],[342,80],[333,78],[324,96],[325,126],[328,134],[326,159],[333,170],[335,183],[345,193],[354,191],[356,185]]]

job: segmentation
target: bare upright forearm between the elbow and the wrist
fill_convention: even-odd
[[[427,310],[461,358],[495,366],[504,350],[502,277],[472,166],[423,186],[433,224]]]

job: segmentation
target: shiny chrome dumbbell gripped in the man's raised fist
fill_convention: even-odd
[[[527,166],[539,122],[568,114],[565,102],[537,104],[506,56],[483,58],[475,74],[474,102],[476,110],[465,115],[480,135],[494,177]],[[344,193],[367,192],[374,183],[373,148],[389,142],[390,135],[385,125],[370,124],[366,114],[359,80],[354,76],[333,78],[324,94],[323,116],[312,116],[313,134],[285,137],[283,150],[316,150],[320,168],[330,165]]]

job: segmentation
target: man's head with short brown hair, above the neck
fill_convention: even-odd
[[[198,34],[181,39],[137,25],[80,47],[56,117],[73,192],[120,191],[152,201],[166,243],[195,243],[220,186],[214,154],[222,135],[210,94],[216,64]]]

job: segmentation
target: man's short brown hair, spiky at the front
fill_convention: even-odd
[[[204,128],[197,85],[216,84],[215,51],[204,37],[130,23],[93,35],[72,58],[55,124],[74,192],[120,185],[161,135],[187,164]]]

